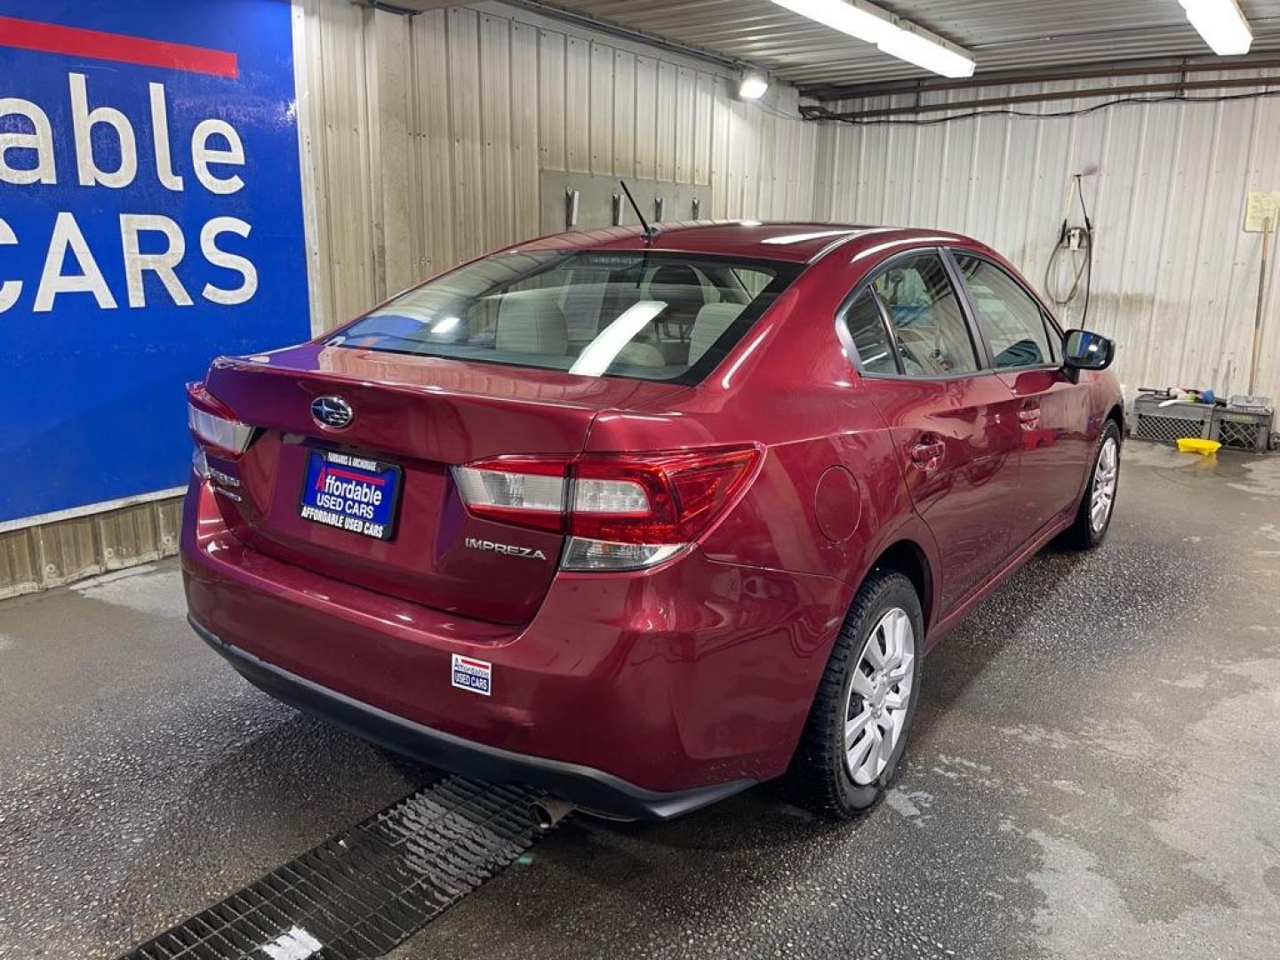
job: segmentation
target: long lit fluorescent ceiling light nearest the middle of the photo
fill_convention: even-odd
[[[1184,3],[1190,1],[1194,0],[1184,0]],[[1224,1],[1233,3],[1233,0]],[[874,44],[881,52],[906,60],[922,69],[943,77],[973,76],[974,60],[965,50],[863,0],[773,0],[773,3],[841,33]]]

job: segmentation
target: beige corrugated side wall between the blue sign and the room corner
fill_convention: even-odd
[[[301,13],[316,329],[536,236],[539,169],[710,183],[713,218],[814,214],[819,131],[788,87],[741,104],[705,63],[495,4]]]

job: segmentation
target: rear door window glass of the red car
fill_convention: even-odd
[[[978,370],[960,301],[937,253],[895,260],[872,280],[893,326],[906,376],[956,376]]]

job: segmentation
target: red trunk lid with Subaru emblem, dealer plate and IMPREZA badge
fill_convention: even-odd
[[[210,453],[210,466],[239,480],[220,502],[246,545],[370,590],[506,623],[536,612],[563,538],[472,517],[449,467],[577,453],[602,410],[648,406],[684,389],[320,344],[215,361],[206,387],[257,428],[238,461]],[[349,406],[348,426],[320,425],[312,403],[324,397]],[[367,467],[381,470],[381,480]],[[316,516],[323,483],[352,480],[394,488],[385,539],[303,517],[305,503]]]

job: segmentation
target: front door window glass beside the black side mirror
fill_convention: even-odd
[[[1057,360],[1039,303],[988,260],[956,255],[997,370],[1046,366]]]

